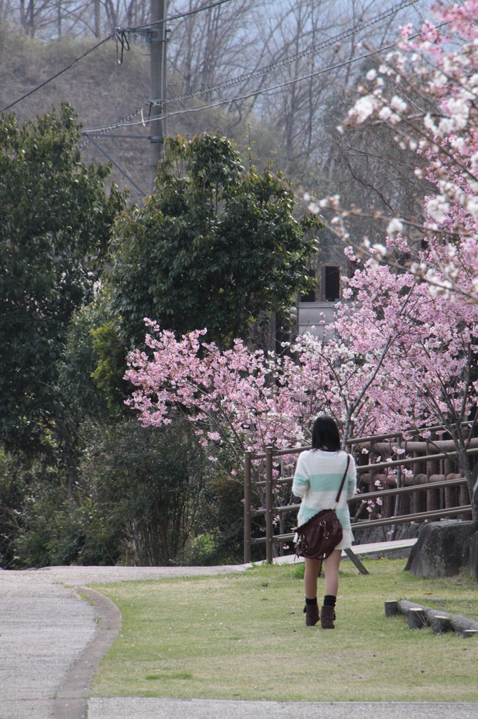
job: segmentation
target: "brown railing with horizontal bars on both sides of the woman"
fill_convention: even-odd
[[[440,428],[431,428],[440,429]],[[373,437],[362,437],[360,439],[352,439],[352,444],[373,444],[384,439],[391,439],[396,435],[380,435]],[[428,443],[423,443],[428,444]],[[473,441],[471,449],[467,450],[467,454],[478,453],[478,439]],[[434,449],[439,449],[440,442],[428,444]],[[305,449],[311,449],[310,446],[295,447],[293,449],[274,449],[266,447],[263,454],[254,454],[253,452],[245,453],[245,482],[244,482],[244,562],[250,562],[251,546],[253,544],[266,544],[266,559],[269,563],[273,561],[274,544],[291,541],[294,539],[294,533],[277,533],[274,534],[274,517],[281,516],[284,513],[296,512],[300,505],[275,505],[274,504],[274,485],[289,484],[294,477],[273,477],[273,462],[277,457],[285,455],[299,454]],[[417,454],[415,452],[415,454]],[[431,454],[419,454],[415,457],[404,457],[388,462],[374,462],[371,464],[362,464],[357,466],[357,472],[368,475],[369,489],[370,485],[374,485],[377,477],[384,487],[378,487],[366,493],[360,493],[351,498],[350,504],[360,503],[360,507],[367,506],[369,500],[373,503],[378,498],[385,500],[383,505],[385,511],[378,518],[370,518],[367,520],[360,519],[360,508],[352,514],[352,529],[365,529],[370,527],[379,527],[387,525],[396,525],[409,522],[423,522],[430,519],[439,519],[456,516],[470,516],[472,513],[472,505],[470,504],[467,480],[459,477],[456,473],[451,472],[453,467],[450,464],[456,452],[433,452]],[[253,462],[260,460],[265,461],[265,479],[253,480]],[[445,467],[444,462],[447,463]],[[437,463],[441,463],[442,472],[436,471],[440,467]],[[397,467],[398,474],[402,467],[416,466],[418,469],[426,469],[426,472],[415,472],[413,477],[408,477],[404,482],[400,482],[401,486],[395,486],[387,489],[386,485],[390,485],[398,480],[389,480],[388,470]],[[379,474],[378,470],[385,470],[385,475]],[[446,471],[448,470],[448,471]],[[408,484],[408,486],[403,486]],[[257,489],[265,496],[265,508],[253,509],[253,490]],[[264,491],[265,490],[265,491]],[[408,509],[408,503],[404,502],[401,511],[396,511],[396,498],[409,497],[416,495],[413,502],[413,512]],[[438,495],[437,495],[438,493]],[[390,500],[395,500],[393,509],[390,510]],[[388,504],[388,505],[387,505]],[[386,516],[384,516],[386,515]],[[252,520],[255,516],[265,516],[266,536],[252,536]]]

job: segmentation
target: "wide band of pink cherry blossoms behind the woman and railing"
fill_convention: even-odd
[[[245,449],[263,452],[309,441],[308,428],[329,413],[347,439],[442,423],[471,488],[466,454],[477,402],[472,380],[478,307],[431,296],[413,273],[368,260],[347,282],[349,298],[324,339],[298,338],[290,355],[251,352],[236,340],[220,351],[204,330],[177,340],[147,320],[152,354],[133,352],[128,403],[147,425],[182,416],[212,461],[240,467]],[[235,472],[236,470],[233,469]]]

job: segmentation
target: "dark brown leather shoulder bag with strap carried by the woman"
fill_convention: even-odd
[[[345,483],[345,477],[349,471],[350,457],[347,457],[347,467],[340,483],[339,493],[335,498],[333,509],[323,509],[314,514],[308,521],[296,528],[297,557],[306,559],[327,559],[332,554],[337,544],[342,541],[342,525],[339,522],[335,510],[339,503],[340,495]]]

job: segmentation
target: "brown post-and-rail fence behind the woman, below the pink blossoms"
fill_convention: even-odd
[[[431,428],[433,430],[441,428]],[[388,441],[386,441],[388,440]],[[454,470],[456,452],[451,449],[451,441],[408,441],[404,442],[396,435],[380,435],[352,439],[349,446],[359,445],[362,450],[358,457],[367,464],[357,464],[360,485],[367,491],[350,499],[350,505],[358,503],[358,509],[351,510],[352,529],[390,526],[400,523],[423,522],[439,518],[471,518],[472,505],[469,498],[467,480]],[[266,559],[273,561],[274,546],[294,539],[294,533],[274,533],[275,518],[296,513],[298,504],[276,505],[274,487],[291,484],[293,477],[274,477],[274,462],[280,463],[281,457],[299,454],[310,446],[294,449],[274,449],[266,447],[263,454],[245,453],[244,481],[244,562],[250,562],[253,544],[266,544]],[[440,450],[444,449],[443,452]],[[365,454],[363,454],[365,450]],[[370,462],[384,452],[411,452],[413,457],[389,459],[386,462]],[[478,453],[478,439],[472,439],[467,454]],[[381,457],[380,457],[381,459]],[[253,462],[261,467],[253,471]],[[408,467],[413,473],[404,472]],[[253,479],[253,474],[257,479]],[[264,477],[264,479],[261,479]],[[378,483],[378,484],[377,484]],[[256,492],[263,499],[261,508],[252,506]],[[376,500],[381,500],[377,508]],[[370,505],[370,503],[372,503]],[[370,517],[361,516],[372,508]],[[380,516],[377,516],[380,514]],[[252,536],[253,517],[265,516],[265,536]],[[281,523],[280,521],[278,522]]]

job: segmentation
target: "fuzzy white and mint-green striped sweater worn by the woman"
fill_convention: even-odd
[[[301,497],[297,525],[308,521],[322,509],[332,509],[339,491],[340,482],[347,465],[346,452],[323,452],[309,449],[299,454],[292,493]],[[342,528],[350,530],[350,513],[347,499],[357,488],[355,461],[350,455],[350,464],[345,484],[337,507],[337,517]]]

